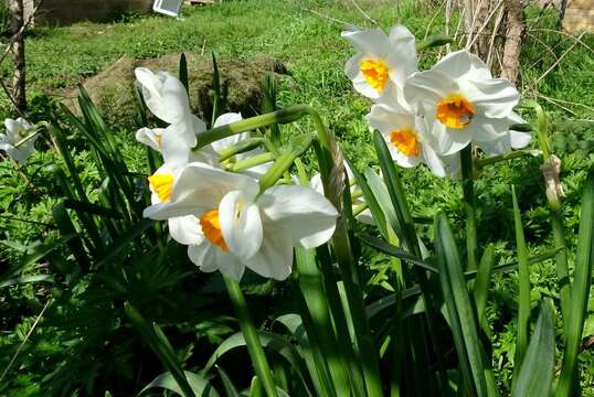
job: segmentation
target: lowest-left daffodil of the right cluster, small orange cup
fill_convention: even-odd
[[[367,116],[371,128],[379,130],[392,154],[404,168],[425,163],[437,176],[445,176],[444,165],[434,149],[431,129],[434,124],[404,108],[375,104]]]

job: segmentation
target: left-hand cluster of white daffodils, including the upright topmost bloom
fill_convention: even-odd
[[[286,279],[294,247],[314,248],[328,242],[338,213],[314,189],[274,185],[261,190],[261,164],[242,173],[224,170],[219,153],[248,133],[231,136],[195,149],[206,125],[192,115],[183,84],[167,72],[137,68],[148,109],[167,128],[138,130],[137,140],[162,154],[163,164],[148,178],[151,204],[146,217],[168,221],[171,237],[188,246],[188,256],[202,271],[220,270],[240,280],[245,268],[263,277]],[[220,116],[213,127],[242,119]],[[236,154],[246,158],[254,149]]]

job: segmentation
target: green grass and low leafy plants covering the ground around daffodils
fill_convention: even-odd
[[[360,1],[359,4],[369,15],[383,28],[394,23],[403,23],[418,37],[429,34],[444,33],[443,10],[429,1],[407,1],[394,4],[392,1]],[[434,18],[435,17],[435,18]],[[160,57],[170,53],[192,52],[210,53],[219,56],[250,58],[257,53],[266,53],[283,62],[291,76],[282,82],[279,105],[306,103],[312,105],[322,115],[329,127],[337,133],[347,154],[358,168],[375,167],[375,155],[372,147],[372,136],[368,130],[363,116],[369,110],[369,101],[358,96],[350,81],[343,74],[343,65],[351,54],[349,45],[340,39],[342,22],[360,26],[371,26],[369,19],[362,15],[350,1],[273,1],[251,0],[224,2],[218,7],[184,8],[182,20],[177,21],[163,17],[127,18],[121,22],[110,24],[82,23],[70,28],[35,29],[26,41],[28,81],[31,117],[33,120],[43,119],[47,103],[55,100],[61,89],[75,87],[85,78],[100,72],[121,56],[135,58]],[[450,22],[449,31],[455,31],[457,19]],[[553,146],[563,162],[562,180],[565,185],[563,212],[568,219],[568,229],[575,230],[579,222],[580,185],[586,170],[593,163],[594,153],[594,36],[584,35],[581,43],[575,39],[555,32],[555,15],[550,12],[541,13],[533,9],[529,12],[530,34],[522,52],[520,92],[526,98],[533,97],[552,115]],[[565,54],[565,52],[568,52]],[[429,66],[438,55],[439,50],[423,54],[421,67]],[[559,65],[541,76],[563,56]],[[10,74],[10,66],[2,66],[2,74]],[[544,97],[543,97],[544,96]],[[1,98],[0,115],[11,115],[7,99]],[[531,118],[530,111],[526,117]],[[132,143],[134,127],[115,125],[119,131],[126,162],[134,171],[146,172],[137,162],[139,148]],[[299,127],[290,127],[286,133],[311,129],[304,122]],[[84,143],[78,143],[84,148]],[[59,194],[51,181],[52,174],[44,165],[55,160],[51,152],[38,152],[26,167],[28,178],[34,190],[28,189],[21,174],[15,173],[10,163],[0,165],[0,202],[6,214],[0,218],[1,239],[4,245],[0,248],[0,265],[10,268],[26,258],[22,246],[31,246],[35,242],[56,239],[52,227],[51,208],[57,203]],[[96,196],[96,187],[100,183],[98,172],[94,169],[91,154],[85,150],[75,155],[81,178],[91,197]],[[524,159],[513,163],[499,163],[482,170],[482,182],[477,183],[479,202],[479,242],[481,245],[494,243],[498,255],[512,254],[515,246],[507,242],[513,240],[513,218],[510,212],[511,195],[509,186],[515,184],[524,217],[524,228],[531,254],[543,253],[550,247],[550,222],[547,202],[543,194],[539,170],[539,159]],[[489,181],[488,183],[485,181]],[[459,206],[460,192],[457,184],[439,180],[422,168],[404,172],[404,182],[413,212],[418,216],[432,217],[437,211],[445,211],[448,217],[457,223],[457,229],[463,230],[463,211]],[[438,193],[436,193],[438,192]],[[17,198],[15,198],[17,197]],[[4,216],[6,215],[6,216]],[[9,217],[10,215],[11,217]],[[14,221],[19,217],[36,223]],[[39,224],[42,223],[42,224]],[[422,229],[423,236],[433,234],[432,227]],[[462,237],[462,232],[459,236]],[[506,243],[503,243],[506,242]],[[575,242],[571,242],[573,245]],[[460,244],[462,246],[462,244]],[[573,251],[573,250],[571,250]],[[374,273],[370,277],[368,291],[370,296],[385,287],[384,270],[389,260],[382,255],[365,251],[365,266]],[[43,265],[43,264],[42,264]],[[26,275],[38,270],[38,264],[31,261]],[[185,270],[191,269],[187,268]],[[533,283],[532,300],[540,297],[558,298],[554,264],[545,261],[534,265],[531,269]],[[503,390],[509,387],[512,371],[516,323],[512,320],[517,299],[516,273],[497,275],[494,278],[488,316],[494,325],[494,351],[498,362],[495,365],[498,382]],[[84,287],[81,287],[84,288]],[[201,286],[208,291],[209,286]],[[211,288],[214,288],[211,286]],[[259,288],[259,290],[258,290]],[[273,293],[283,297],[286,292],[282,287],[265,285],[254,287],[253,293]],[[263,292],[264,291],[264,292]],[[34,315],[39,313],[40,297],[50,293],[49,289],[39,285],[2,288],[0,310],[4,310],[0,334],[0,348],[4,353],[0,360],[0,368],[8,364],[19,341],[30,329]],[[88,298],[88,297],[86,297]],[[93,297],[97,298],[97,297]],[[211,297],[212,298],[212,297]],[[263,299],[265,299],[264,297]],[[98,298],[97,298],[98,299]],[[209,298],[210,299],[210,298]],[[282,304],[280,304],[282,305]],[[591,299],[590,318],[584,335],[594,334],[594,299]],[[195,309],[195,308],[192,308]],[[224,311],[229,314],[231,311]],[[178,313],[177,313],[178,314]],[[262,314],[262,313],[259,313]],[[160,313],[159,315],[162,315]],[[188,325],[178,330],[180,335],[188,337],[192,332],[199,337],[208,339],[216,344],[221,335],[230,332],[230,326],[221,319],[212,315],[209,321],[201,322],[193,330]],[[223,315],[221,313],[220,315]],[[114,320],[109,329],[109,337],[116,337],[118,324]],[[174,321],[172,321],[174,322]],[[213,325],[214,324],[214,325]],[[56,324],[50,324],[56,325]],[[112,332],[114,331],[114,332]],[[124,333],[130,333],[125,330]],[[39,357],[50,357],[47,363],[55,365],[72,364],[67,352],[75,346],[68,330],[49,328],[40,331],[39,342],[28,346],[31,354],[29,361],[17,371],[18,376],[11,377],[7,387],[0,386],[1,393],[8,395],[43,395],[39,385],[51,384],[52,390],[71,395],[76,389],[95,393],[126,390],[128,387],[141,385],[136,376],[136,363],[127,356],[129,351],[116,344],[97,348],[92,343],[94,362],[84,368],[76,368],[83,374],[70,379],[67,374],[56,375],[49,368],[52,364],[31,363]],[[102,334],[103,336],[103,334]],[[180,346],[187,348],[185,357],[206,356],[206,352],[192,352],[193,346],[187,339]],[[81,350],[75,350],[81,354]],[[181,347],[180,347],[181,348]],[[62,353],[61,353],[62,352]],[[83,351],[84,352],[84,351]],[[91,353],[89,353],[91,354]],[[118,354],[121,354],[118,356]],[[104,357],[115,355],[113,362]],[[594,354],[586,350],[582,356],[582,384],[584,395],[588,395],[588,385],[594,379]],[[102,360],[104,360],[102,362]],[[155,363],[148,363],[148,367]],[[52,374],[52,376],[46,375]],[[86,376],[86,378],[85,378]],[[142,375],[144,376],[144,375]],[[56,380],[57,379],[57,380]],[[142,377],[145,379],[145,377]],[[106,382],[104,386],[100,380]],[[71,382],[71,383],[68,383]],[[146,384],[146,382],[145,382]],[[89,386],[91,385],[91,386]],[[131,386],[134,385],[134,386]],[[2,388],[4,387],[4,388]],[[85,395],[81,391],[79,395]],[[117,395],[117,394],[116,394]],[[594,395],[594,394],[590,394]]]

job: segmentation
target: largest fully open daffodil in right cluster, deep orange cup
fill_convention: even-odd
[[[520,95],[503,78],[492,78],[487,65],[467,51],[446,55],[431,71],[410,76],[404,97],[429,122],[435,150],[452,154],[470,141],[488,142],[507,131]]]

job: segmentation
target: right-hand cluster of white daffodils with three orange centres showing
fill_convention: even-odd
[[[342,32],[357,53],[346,74],[375,104],[367,116],[401,167],[425,163],[435,175],[456,175],[458,152],[470,142],[488,154],[526,147],[530,135],[510,130],[523,120],[513,111],[520,95],[495,78],[476,55],[462,50],[428,71],[417,69],[414,35],[395,25]]]

